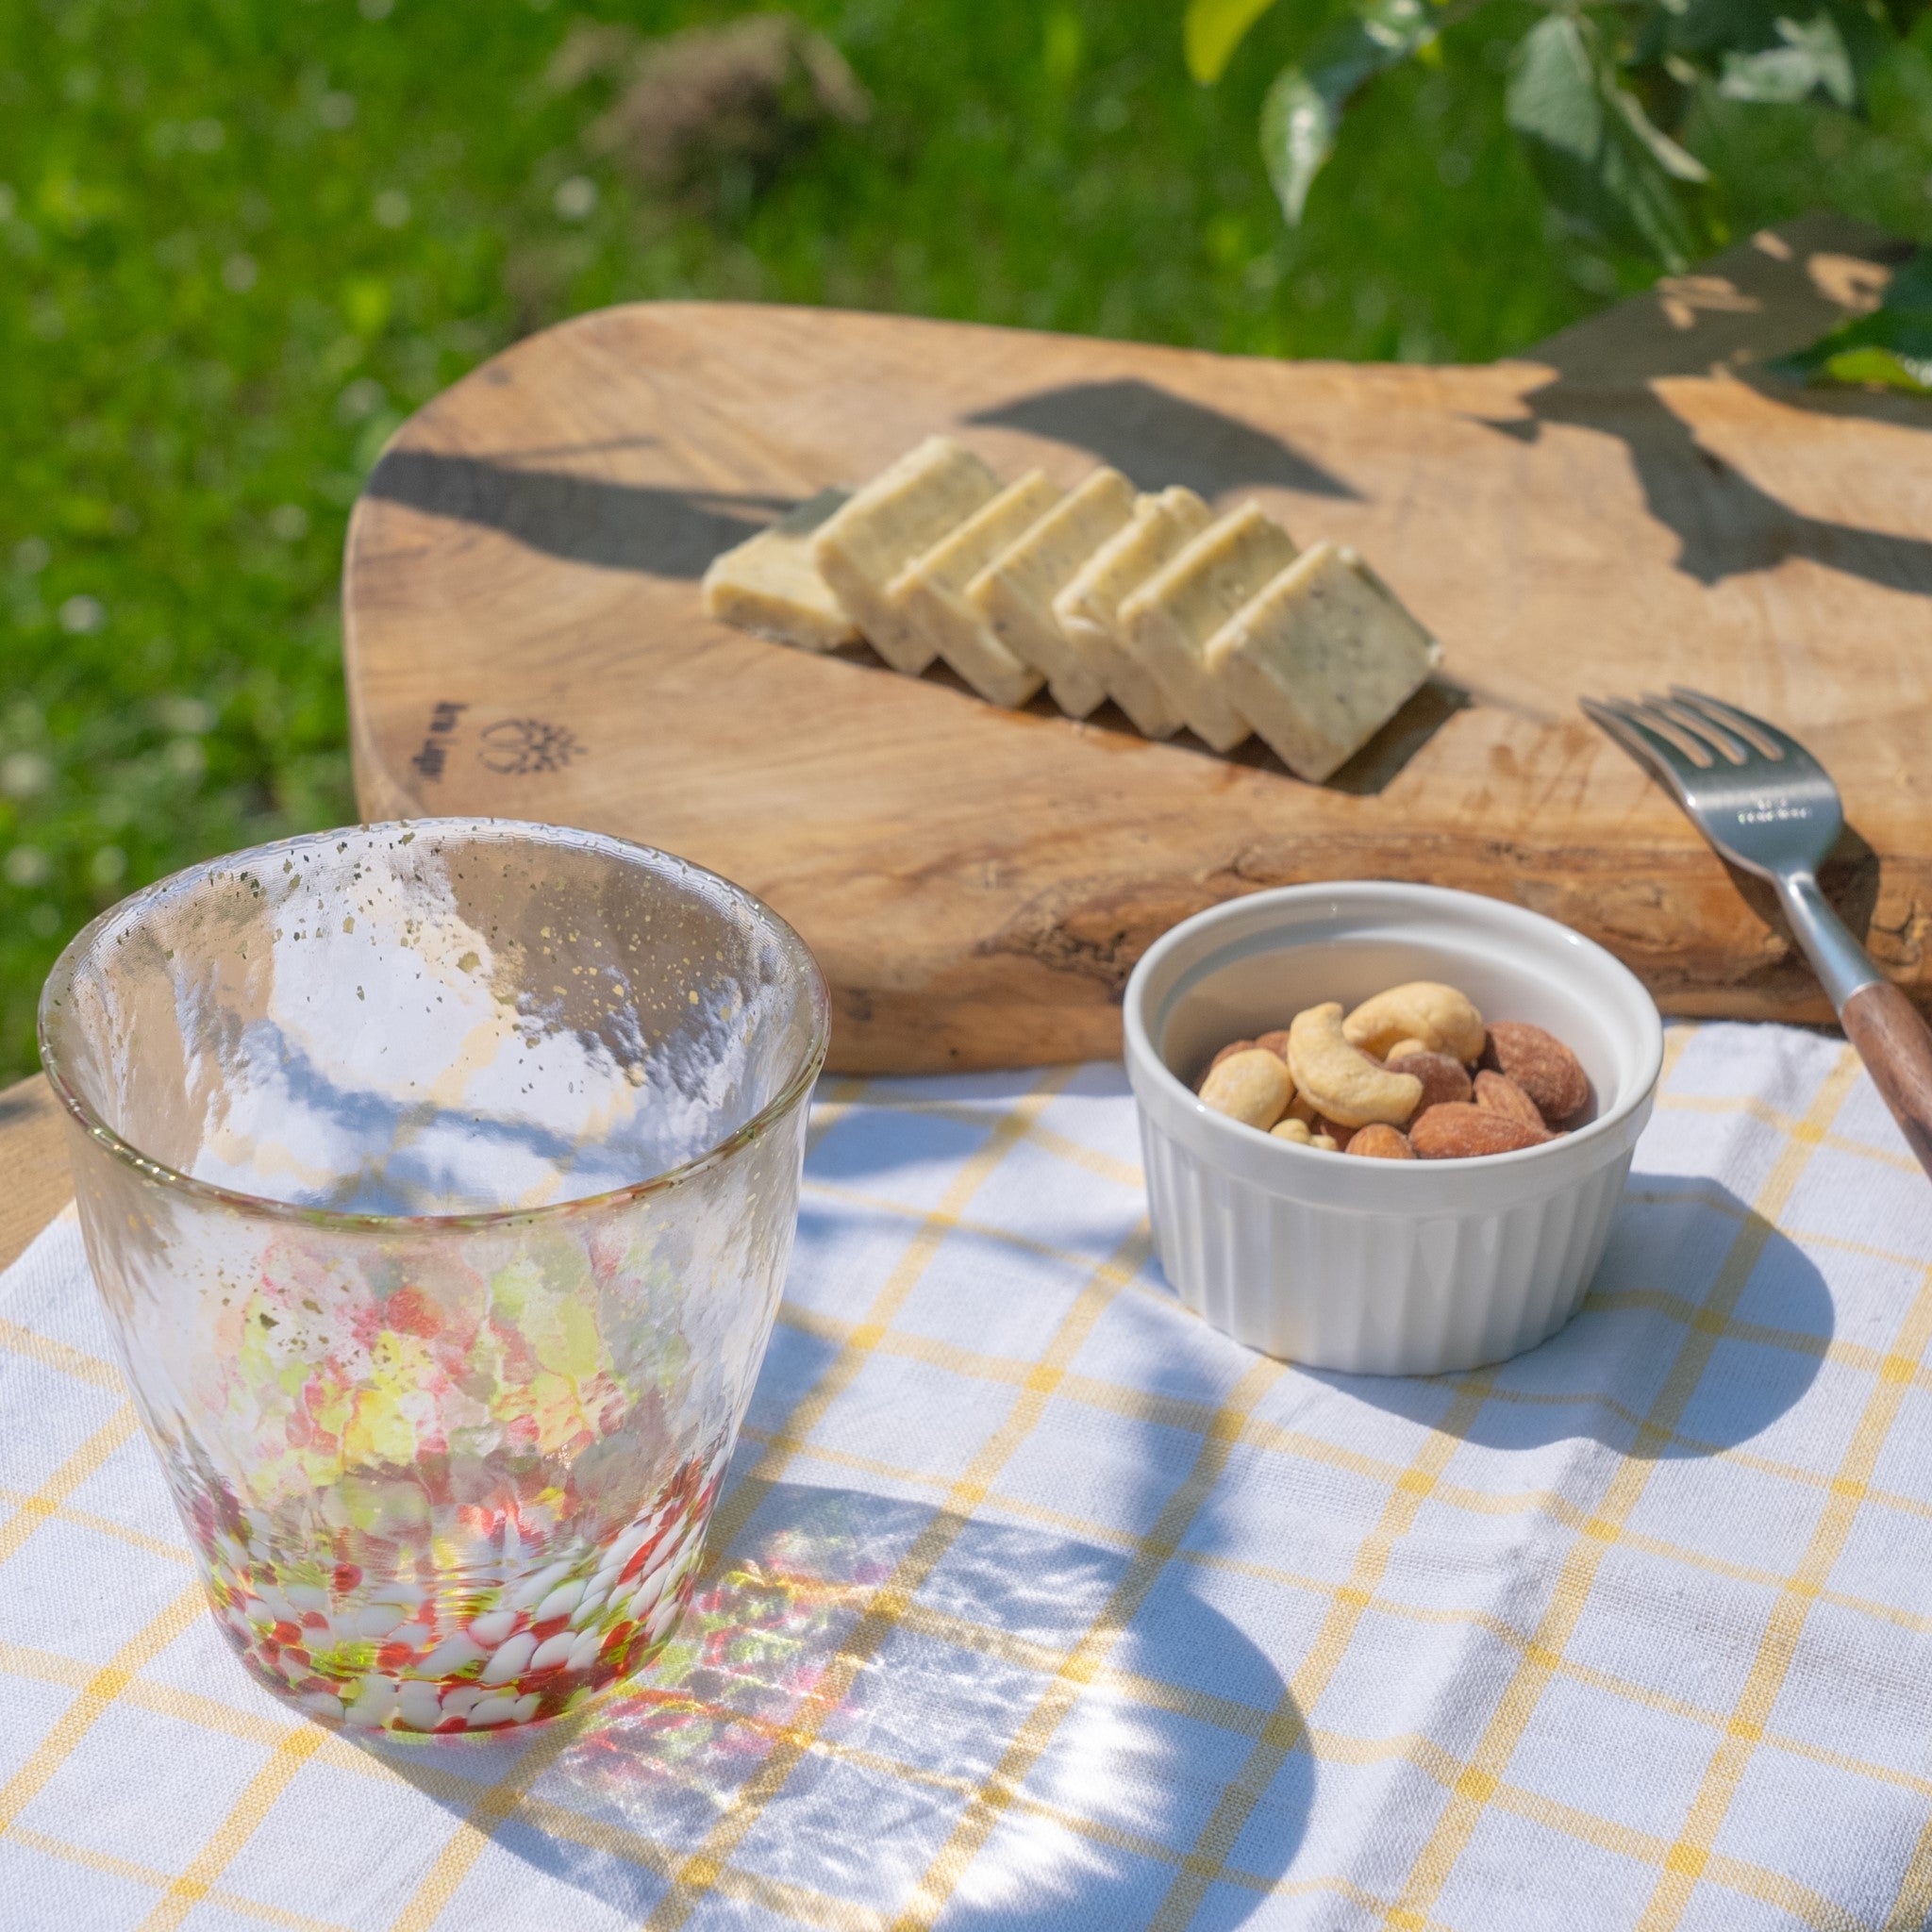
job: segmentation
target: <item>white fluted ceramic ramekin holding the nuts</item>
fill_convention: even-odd
[[[1271,1140],[1194,1097],[1229,1039],[1405,980],[1445,980],[1486,1018],[1567,1041],[1596,1117],[1480,1161],[1358,1161]],[[1310,1368],[1430,1376],[1520,1354],[1582,1300],[1662,1061],[1638,980],[1520,906],[1379,881],[1211,906],[1157,939],[1126,983],[1161,1267],[1215,1327]]]

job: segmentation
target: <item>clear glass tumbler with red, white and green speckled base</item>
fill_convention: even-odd
[[[62,952],[41,1051],[122,1368],[245,1665],[317,1718],[572,1710],[690,1596],[827,995],[724,879],[365,825]]]

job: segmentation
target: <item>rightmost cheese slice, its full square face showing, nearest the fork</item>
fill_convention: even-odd
[[[1441,647],[1354,551],[1318,543],[1206,655],[1281,763],[1320,784],[1387,724]]]

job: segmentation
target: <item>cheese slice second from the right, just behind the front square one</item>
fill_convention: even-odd
[[[1121,603],[1128,649],[1161,680],[1188,730],[1215,752],[1233,752],[1252,724],[1209,672],[1208,639],[1294,554],[1294,539],[1260,504],[1246,502]]]

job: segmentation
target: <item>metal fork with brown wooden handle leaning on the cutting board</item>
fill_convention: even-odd
[[[1832,775],[1776,724],[1681,684],[1667,697],[1646,692],[1642,703],[1580,703],[1663,781],[1719,858],[1777,889],[1845,1037],[1932,1173],[1932,1030],[1818,889],[1818,867],[1845,829]]]

